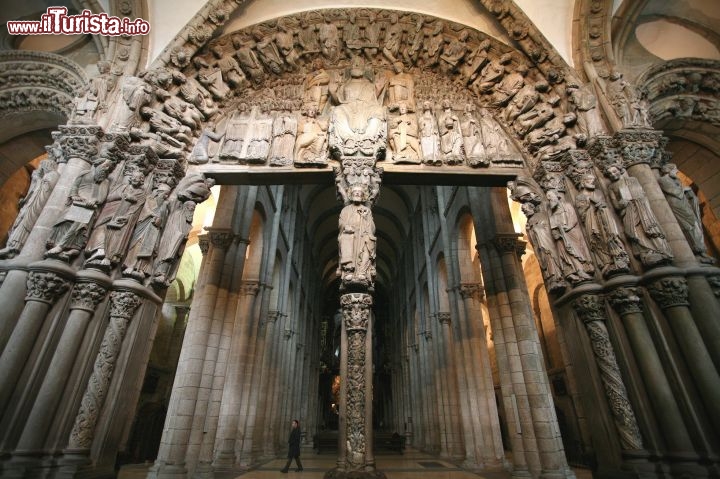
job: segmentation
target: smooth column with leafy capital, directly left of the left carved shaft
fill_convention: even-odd
[[[70,298],[70,315],[20,437],[19,451],[42,447],[63,388],[72,373],[85,329],[98,304],[105,299],[110,284],[110,278],[99,271],[89,269],[78,273]]]

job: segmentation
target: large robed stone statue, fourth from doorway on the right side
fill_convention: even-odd
[[[622,217],[625,235],[635,257],[649,267],[670,262],[673,257],[670,246],[640,182],[619,164],[608,166],[605,175],[610,179],[610,201]]]

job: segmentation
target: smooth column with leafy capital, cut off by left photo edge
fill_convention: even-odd
[[[25,307],[0,356],[0,413],[4,413],[50,308],[70,287],[75,272],[65,263],[46,260],[29,267]]]

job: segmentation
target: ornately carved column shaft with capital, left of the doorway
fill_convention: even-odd
[[[69,461],[82,462],[89,454],[128,325],[142,302],[138,292],[131,289],[117,289],[110,293],[108,326],[65,450]]]

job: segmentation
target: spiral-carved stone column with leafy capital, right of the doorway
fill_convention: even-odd
[[[627,389],[620,374],[615,350],[610,342],[605,322],[605,306],[599,295],[585,294],[573,302],[573,308],[587,330],[595,362],[600,371],[600,380],[605,390],[613,421],[620,435],[624,451],[643,450],[640,428],[635,419]]]

